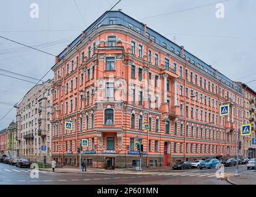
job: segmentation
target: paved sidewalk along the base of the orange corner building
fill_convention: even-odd
[[[143,171],[145,172],[153,172],[153,171],[163,171],[166,169],[171,169],[171,168],[166,168],[166,167],[142,167]],[[40,168],[40,171],[53,171],[51,168]],[[114,169],[114,170],[105,170],[101,168],[91,168],[87,167],[87,172],[81,172],[79,171],[79,167],[63,167],[63,168],[55,168],[55,172],[58,173],[88,173],[88,174],[93,174],[93,173],[101,173],[101,174],[131,174],[134,172],[139,172],[135,171],[135,167],[133,168],[125,168],[125,169]]]

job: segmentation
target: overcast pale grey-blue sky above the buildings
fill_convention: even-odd
[[[75,2],[74,2],[75,1]],[[224,18],[216,18],[221,0],[122,0],[114,10],[147,23],[150,28],[184,46],[232,80],[256,79],[256,1],[229,0]],[[58,55],[82,30],[110,9],[117,0],[5,0],[0,6],[0,35]],[[30,4],[39,6],[39,18],[30,17]],[[210,6],[204,6],[213,4]],[[197,9],[190,9],[198,7]],[[190,9],[190,10],[188,10]],[[184,10],[183,12],[176,12]],[[175,14],[163,15],[170,12]],[[159,17],[147,18],[155,15]],[[144,18],[144,19],[143,19]],[[41,78],[54,64],[54,57],[0,38],[0,68]],[[2,74],[3,71],[0,71]],[[44,79],[52,78],[49,73]],[[17,76],[19,77],[19,76]],[[29,81],[35,81],[27,79]],[[0,119],[34,84],[0,75]],[[36,82],[36,81],[35,81]],[[256,90],[256,82],[250,83]],[[4,129],[15,121],[15,109],[0,121]]]

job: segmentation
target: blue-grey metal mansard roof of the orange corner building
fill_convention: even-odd
[[[114,20],[114,23],[113,23]],[[174,55],[178,55],[181,57],[181,51],[182,46],[177,45],[173,41],[170,41],[168,38],[165,38],[160,33],[157,33],[156,31],[152,30],[147,26],[146,32],[145,32],[145,24],[142,22],[139,22],[135,20],[134,18],[130,17],[127,14],[124,14],[120,10],[118,11],[106,11],[101,17],[99,17],[95,22],[92,23],[92,25],[88,26],[86,30],[83,31],[83,37],[87,37],[88,34],[92,33],[96,28],[102,26],[102,25],[122,25],[127,28],[132,28],[134,31],[137,31],[137,33],[142,34],[143,36],[146,34],[146,37],[148,39],[153,39],[156,44],[163,47],[163,44],[166,44],[166,49],[169,50]],[[72,41],[68,47],[66,47],[64,50],[62,50],[61,54],[58,55],[58,60],[61,60],[64,55],[66,55],[70,50],[72,50],[77,44],[82,42],[82,34],[80,34],[74,41]],[[68,50],[67,50],[68,49]],[[184,48],[183,48],[184,49]],[[212,68],[211,65],[208,65],[207,63],[203,62],[203,60],[200,60],[195,55],[190,54],[187,50],[184,49],[184,55],[186,56],[186,60],[190,60],[192,64],[197,66],[197,68],[200,68],[201,70],[207,72],[214,78],[217,78],[227,86],[233,88],[234,90],[237,90],[239,92],[242,92],[242,88],[239,84],[232,81],[228,77],[224,76],[224,74],[221,74],[218,70],[215,68]],[[217,77],[216,77],[217,76]]]

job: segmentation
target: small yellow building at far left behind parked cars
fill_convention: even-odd
[[[12,121],[7,127],[7,156],[17,156],[16,123]]]

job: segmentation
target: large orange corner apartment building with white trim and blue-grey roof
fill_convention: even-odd
[[[121,11],[105,12],[56,57],[52,156],[78,165],[131,167],[235,156],[242,87],[184,47]],[[229,103],[220,117],[220,104]],[[65,122],[72,122],[72,130]],[[145,123],[150,124],[145,131]]]

